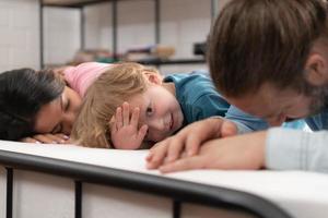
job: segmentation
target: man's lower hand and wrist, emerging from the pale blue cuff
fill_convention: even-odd
[[[159,168],[163,173],[191,169],[256,170],[265,167],[267,132],[256,132],[203,144],[198,155]]]

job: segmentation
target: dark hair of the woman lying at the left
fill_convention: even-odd
[[[0,74],[0,140],[16,141],[34,133],[42,106],[58,98],[65,83],[52,71],[19,69]]]

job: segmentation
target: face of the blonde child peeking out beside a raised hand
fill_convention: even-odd
[[[140,108],[139,125],[148,125],[145,141],[159,142],[181,128],[184,114],[174,92],[151,84],[143,94],[128,99],[130,108]]]

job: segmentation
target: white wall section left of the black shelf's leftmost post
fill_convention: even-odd
[[[0,0],[0,72],[39,68],[37,0]]]

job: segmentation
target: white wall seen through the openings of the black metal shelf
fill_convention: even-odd
[[[218,0],[219,8],[226,1]],[[112,50],[112,3],[87,5],[84,12],[85,48]],[[62,64],[70,61],[80,45],[79,13],[51,8],[47,9],[46,17],[46,63]],[[176,48],[174,58],[195,58],[192,45],[206,40],[210,25],[211,0],[161,1],[161,43]],[[58,40],[62,38],[65,40]],[[122,53],[131,46],[151,45],[154,41],[154,1],[119,1],[118,52]],[[165,73],[203,68],[204,64],[168,65],[161,70]]]

